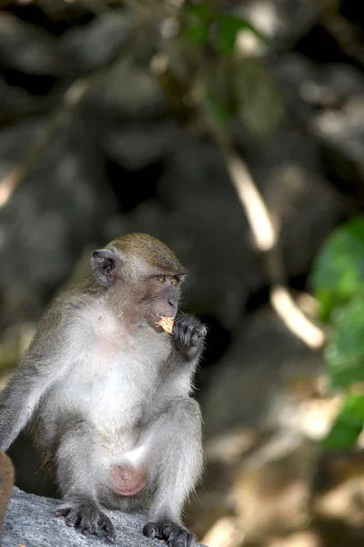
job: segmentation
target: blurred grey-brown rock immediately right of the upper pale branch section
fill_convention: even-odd
[[[307,275],[348,211],[322,169],[317,143],[287,122],[264,146],[247,146],[245,160],[278,231],[288,278]]]

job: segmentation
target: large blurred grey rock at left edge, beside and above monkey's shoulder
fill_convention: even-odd
[[[18,166],[44,124],[32,119],[0,131],[0,178]],[[0,219],[0,261],[6,263],[0,273],[3,326],[37,319],[84,245],[102,240],[102,220],[114,208],[104,177],[84,122],[66,120],[10,191]]]

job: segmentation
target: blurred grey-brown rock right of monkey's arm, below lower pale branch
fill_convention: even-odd
[[[263,309],[250,315],[237,326],[203,394],[205,438],[238,428],[299,430],[298,403],[307,397],[322,366],[322,356],[290,333],[273,312]]]

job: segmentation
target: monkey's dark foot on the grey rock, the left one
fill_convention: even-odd
[[[56,511],[56,517],[65,517],[67,526],[74,526],[84,535],[98,531],[106,532],[108,541],[115,542],[116,533],[112,521],[94,503],[85,502],[62,507]]]

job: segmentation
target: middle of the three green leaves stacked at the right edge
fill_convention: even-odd
[[[355,298],[334,318],[325,347],[325,361],[333,387],[364,381],[364,297]]]

